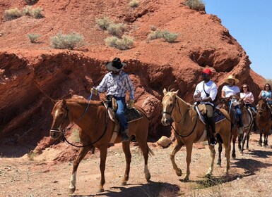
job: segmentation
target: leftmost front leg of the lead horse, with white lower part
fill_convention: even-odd
[[[81,163],[81,160],[85,157],[85,155],[90,151],[90,147],[83,147],[79,150],[79,153],[76,157],[76,160],[73,162],[73,172],[70,179],[70,186],[69,190],[70,193],[73,193],[76,191],[76,171],[78,170],[78,165]]]

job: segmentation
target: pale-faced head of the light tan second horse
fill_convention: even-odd
[[[168,126],[173,122],[172,111],[175,108],[177,91],[166,91],[163,89],[163,98],[162,98],[162,125]]]

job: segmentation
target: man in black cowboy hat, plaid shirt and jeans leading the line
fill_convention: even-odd
[[[110,70],[102,79],[97,87],[93,87],[90,91],[93,94],[107,91],[107,96],[113,96],[117,101],[117,117],[121,126],[122,142],[129,140],[129,125],[124,116],[126,106],[126,91],[129,91],[128,108],[134,106],[134,85],[126,72],[122,70],[126,63],[122,63],[120,58],[114,58],[111,62],[106,63],[107,70]]]

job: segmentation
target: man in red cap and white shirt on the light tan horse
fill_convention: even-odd
[[[200,102],[201,104],[205,104],[207,108],[207,117],[208,117],[208,124],[211,127],[212,134],[210,134],[210,145],[214,146],[216,144],[215,139],[215,120],[213,118],[213,103],[212,101],[215,100],[217,95],[217,87],[216,84],[210,80],[213,72],[209,68],[205,68],[202,71],[202,78],[203,81],[196,85],[196,90],[194,91],[194,100],[196,102]],[[208,132],[208,131],[207,131]]]

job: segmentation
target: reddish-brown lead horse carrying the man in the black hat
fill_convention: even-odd
[[[143,152],[144,158],[144,173],[146,180],[150,179],[150,172],[148,170],[148,154],[153,154],[147,144],[148,137],[148,117],[143,109],[136,107],[143,118],[129,122],[129,136],[136,136],[138,145]],[[64,136],[66,127],[70,122],[74,122],[81,128],[79,137],[83,147],[81,147],[76,160],[73,162],[73,172],[70,181],[70,193],[76,190],[76,171],[79,163],[90,151],[96,147],[100,150],[100,187],[99,192],[104,191],[105,184],[105,162],[107,157],[107,147],[110,143],[112,133],[114,131],[114,122],[110,120],[107,115],[107,109],[103,106],[102,102],[98,101],[81,101],[77,99],[68,99],[58,101],[52,110],[53,123],[50,129],[50,136],[53,139],[58,139]],[[121,136],[118,135],[114,143],[121,141]],[[125,185],[129,180],[129,170],[131,163],[131,152],[129,148],[129,141],[123,142],[122,148],[126,156],[126,170],[122,184]]]

